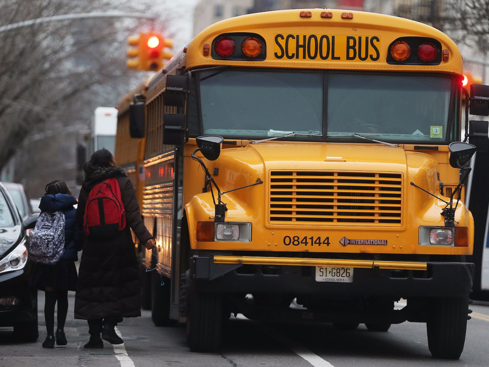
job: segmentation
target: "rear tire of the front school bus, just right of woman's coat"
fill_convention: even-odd
[[[151,319],[155,326],[172,326],[175,320],[170,319],[170,279],[162,277],[156,270],[151,271]]]

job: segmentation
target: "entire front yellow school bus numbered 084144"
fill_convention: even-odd
[[[190,349],[212,351],[231,313],[422,322],[434,357],[459,358],[474,269],[464,182],[487,142],[469,103],[489,114],[489,87],[469,98],[462,72],[445,34],[381,14],[265,12],[197,35],[131,120],[145,128],[155,324],[186,322]]]

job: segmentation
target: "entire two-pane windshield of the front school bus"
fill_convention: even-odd
[[[447,143],[455,80],[413,73],[209,70],[199,73],[202,133],[226,137]],[[327,126],[327,128],[324,128]]]

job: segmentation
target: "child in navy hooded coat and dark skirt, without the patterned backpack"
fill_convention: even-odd
[[[30,285],[45,292],[44,317],[46,319],[47,336],[42,343],[43,348],[54,348],[66,345],[64,332],[68,313],[68,291],[76,291],[76,267],[78,260],[78,244],[82,238],[82,229],[75,228],[75,212],[73,205],[77,200],[71,196],[71,190],[65,181],[55,180],[46,185],[46,194],[41,198],[41,212],[63,212],[65,215],[65,249],[60,261],[55,265],[36,263],[31,274]],[[55,328],[55,305],[58,302],[58,329]]]

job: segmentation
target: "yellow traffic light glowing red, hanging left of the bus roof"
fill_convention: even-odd
[[[143,32],[139,36],[132,36],[127,39],[131,47],[127,50],[127,67],[138,70],[158,70],[164,65],[164,60],[172,58],[172,54],[166,51],[166,47],[172,47],[173,41],[164,38],[160,33]]]

